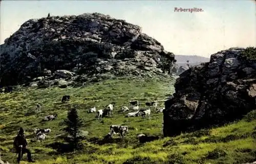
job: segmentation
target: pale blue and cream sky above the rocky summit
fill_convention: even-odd
[[[174,54],[256,46],[255,1],[1,1],[0,44],[32,18],[98,12],[137,24]],[[175,8],[203,12],[175,12]]]

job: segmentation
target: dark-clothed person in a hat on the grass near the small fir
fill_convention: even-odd
[[[18,158],[17,158],[18,163],[22,159],[24,153],[27,153],[29,162],[34,162],[31,159],[30,151],[26,148],[28,143],[27,143],[27,140],[25,139],[24,130],[22,127],[19,129],[18,135],[15,137],[13,145],[14,145],[14,148],[16,149],[16,154],[18,154]]]

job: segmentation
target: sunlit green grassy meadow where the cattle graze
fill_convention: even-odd
[[[16,153],[11,152],[13,138],[19,127],[25,129],[28,149],[36,163],[243,163],[256,160],[256,112],[252,111],[243,120],[222,127],[202,129],[193,133],[182,133],[174,138],[161,138],[140,144],[137,134],[162,135],[163,114],[152,110],[150,120],[141,117],[125,118],[118,112],[130,100],[162,100],[174,92],[174,79],[137,79],[124,77],[110,79],[79,88],[20,88],[13,93],[0,94],[0,149],[2,160],[15,163]],[[63,95],[71,101],[61,103]],[[115,102],[114,115],[98,121],[89,108],[103,109]],[[41,113],[32,113],[40,103]],[[83,141],[83,149],[72,153],[60,153],[54,143],[62,143],[58,137],[63,133],[63,120],[71,107],[76,107],[89,131]],[[56,120],[41,122],[43,116],[57,113]],[[108,132],[111,124],[127,125],[129,132],[124,139],[115,136],[114,143],[98,144]],[[45,141],[33,141],[33,128],[51,128]],[[21,163],[26,162],[26,154]]]

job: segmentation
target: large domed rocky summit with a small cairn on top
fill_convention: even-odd
[[[140,26],[99,13],[30,19],[0,49],[3,86],[44,76],[46,83],[60,77],[148,76],[174,61]]]

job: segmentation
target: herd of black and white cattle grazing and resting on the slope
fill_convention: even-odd
[[[61,102],[66,102],[66,101],[70,101],[70,96],[69,95],[65,95],[62,97]],[[145,105],[147,106],[147,108],[141,108],[139,107],[139,101],[135,100],[135,101],[129,101],[130,106],[121,106],[121,112],[127,112],[127,111],[136,111],[136,112],[130,112],[127,113],[124,117],[139,117],[142,116],[143,118],[147,118],[150,119],[150,115],[151,115],[151,107],[154,107],[156,113],[162,113],[164,108],[158,108],[158,101],[152,101],[152,102],[146,102]],[[36,105],[36,110],[40,111],[41,106],[40,104]],[[108,106],[106,106],[103,110],[96,110],[96,107],[93,106],[92,108],[90,108],[88,110],[88,113],[96,113],[96,118],[98,120],[102,120],[103,117],[105,116],[113,116],[113,110],[114,110],[114,105],[113,104],[109,104]],[[57,114],[54,115],[49,115],[49,116],[45,116],[42,121],[51,121],[57,118]],[[50,133],[51,129],[34,129],[34,133],[36,134],[36,139],[37,140],[45,140],[47,138],[46,133]],[[127,126],[119,126],[119,125],[111,125],[110,126],[110,132],[105,136],[104,139],[111,139],[113,138],[113,135],[116,134],[120,134],[120,136],[122,138],[124,138],[124,135],[128,132],[128,127]],[[145,137],[145,134],[139,134],[137,136],[139,139],[142,137]]]

